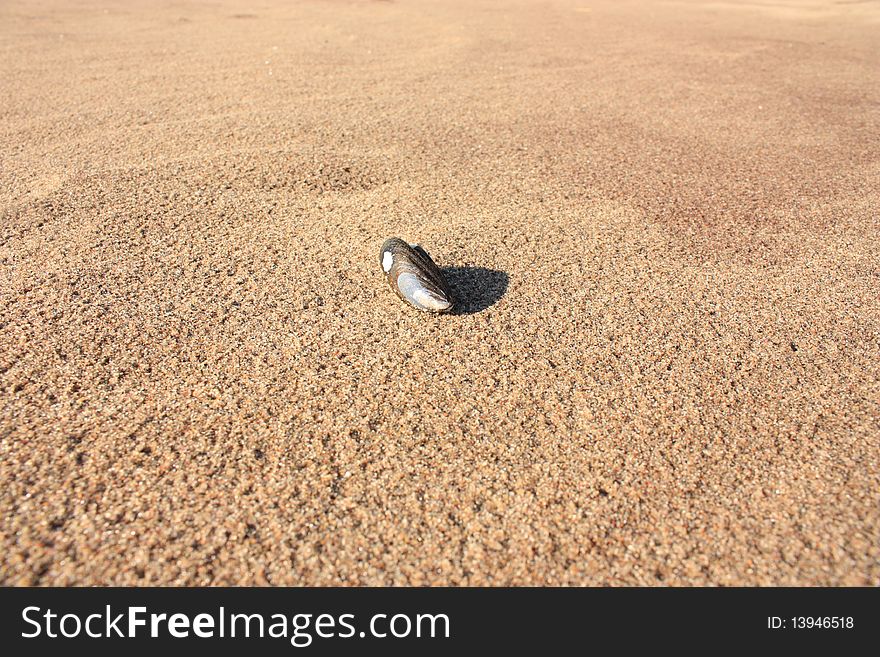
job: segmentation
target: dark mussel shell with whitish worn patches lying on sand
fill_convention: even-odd
[[[397,237],[387,239],[379,261],[391,289],[411,306],[431,313],[452,309],[452,292],[443,273],[418,244],[410,245]]]

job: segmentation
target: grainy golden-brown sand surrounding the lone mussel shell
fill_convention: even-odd
[[[4,0],[0,582],[880,584],[878,35]]]

